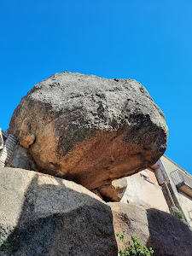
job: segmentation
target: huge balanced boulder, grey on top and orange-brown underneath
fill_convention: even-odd
[[[96,189],[164,154],[167,127],[142,84],[56,73],[22,98],[9,131],[41,172]]]

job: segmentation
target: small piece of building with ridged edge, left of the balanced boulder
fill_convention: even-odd
[[[0,128],[0,167],[9,166],[17,140]]]

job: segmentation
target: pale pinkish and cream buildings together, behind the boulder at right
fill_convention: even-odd
[[[192,227],[192,176],[166,155],[151,168],[113,181],[121,202],[183,212]]]

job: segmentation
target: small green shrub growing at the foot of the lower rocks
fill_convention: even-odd
[[[124,249],[121,249],[119,251],[120,256],[126,256],[126,255],[131,255],[131,256],[150,256],[153,255],[154,251],[152,248],[147,248],[143,247],[143,245],[140,243],[140,240],[138,239],[137,236],[132,235],[131,241],[128,241],[128,243],[125,240],[125,236],[123,234],[116,234],[121,241],[125,241],[127,246]]]

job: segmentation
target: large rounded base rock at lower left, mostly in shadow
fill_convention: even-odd
[[[117,254],[111,209],[90,190],[0,168],[0,256]]]

